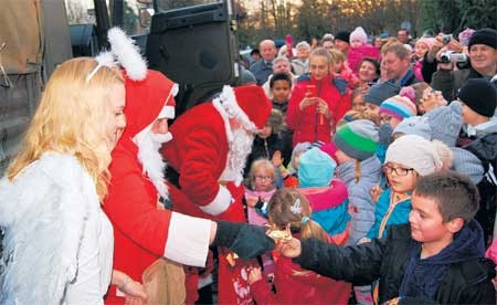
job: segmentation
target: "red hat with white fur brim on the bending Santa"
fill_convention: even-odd
[[[273,107],[264,90],[254,85],[235,88],[224,86],[219,102],[230,118],[237,117],[243,128],[250,132],[266,125]]]

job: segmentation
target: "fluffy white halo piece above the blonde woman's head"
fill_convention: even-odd
[[[140,55],[135,41],[128,38],[119,28],[112,28],[107,33],[108,42],[126,74],[134,81],[141,81],[147,76],[147,62]]]

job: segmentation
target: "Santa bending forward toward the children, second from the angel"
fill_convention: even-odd
[[[254,133],[265,126],[271,108],[258,86],[225,86],[219,98],[191,108],[175,122],[170,129],[173,139],[161,150],[168,170],[179,175],[180,192],[171,192],[173,210],[208,219],[245,221],[242,173]],[[246,297],[235,287],[243,285],[237,281],[241,270],[229,266],[222,250],[219,261],[219,303]]]

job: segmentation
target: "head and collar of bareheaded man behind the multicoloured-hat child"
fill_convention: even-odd
[[[392,43],[384,50],[381,69],[387,73],[389,82],[401,87],[417,83],[411,69],[410,55],[402,43]]]

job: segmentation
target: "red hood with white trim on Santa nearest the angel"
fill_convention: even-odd
[[[142,81],[133,81],[127,74],[125,80],[127,123],[123,137],[135,137],[157,118],[175,117],[178,84],[154,70],[148,70]]]

